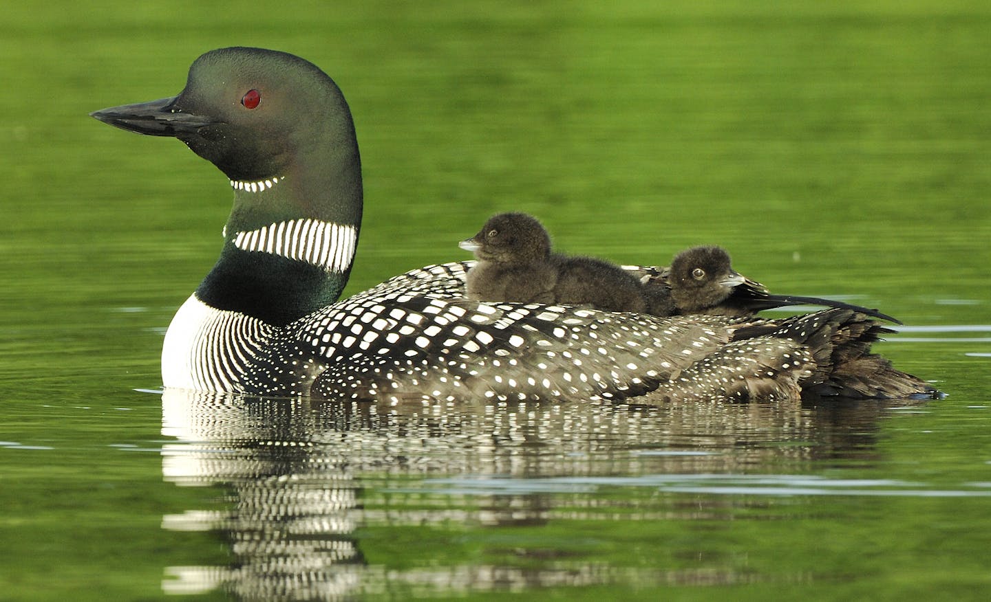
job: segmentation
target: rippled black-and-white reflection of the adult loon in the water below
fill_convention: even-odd
[[[465,559],[464,565],[387,569],[366,561],[356,529],[690,520],[743,502],[726,496],[696,496],[690,504],[635,496],[620,502],[599,487],[649,475],[759,473],[782,465],[802,471],[814,458],[869,460],[882,409],[863,403],[380,407],[167,390],[163,434],[176,441],[163,449],[165,478],[219,485],[230,504],[223,513],[168,515],[164,526],[216,531],[234,560],[227,567],[170,567],[163,586],[171,593],[220,587],[244,599],[334,600],[396,586],[450,594],[619,580],[747,581],[754,576],[711,568],[648,573],[591,558],[562,560],[553,551],[545,551],[548,561],[525,567]]]

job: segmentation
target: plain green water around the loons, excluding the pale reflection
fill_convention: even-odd
[[[772,291],[849,299],[936,329],[877,349],[950,397],[870,422],[869,461],[842,470],[932,491],[981,493],[991,481],[986,2],[50,2],[3,13],[0,441],[18,445],[0,445],[0,597],[159,599],[166,567],[232,561],[216,533],[162,529],[164,514],[229,499],[163,480],[159,451],[172,440],[160,433],[160,399],[132,390],[161,383],[164,329],[215,259],[230,190],[183,145],[86,116],[177,93],[197,55],[225,46],[304,56],[351,104],[366,206],[346,294],[467,258],[457,242],[504,210],[540,217],[561,251],[625,263],[718,244]],[[645,424],[663,431],[664,418]],[[823,437],[842,428],[816,424]],[[698,425],[679,446],[738,452],[703,443]],[[599,444],[581,431],[574,445],[596,458],[644,431]],[[725,431],[752,435],[736,423]],[[772,431],[761,445],[792,445]],[[511,438],[503,445],[530,457]],[[721,470],[837,469],[799,455]],[[506,471],[525,480],[551,465],[531,460],[532,473]],[[399,480],[425,486],[419,478]],[[361,479],[372,506],[398,486],[375,470]],[[669,521],[658,517],[691,502],[652,491],[614,484],[578,496],[656,507],[633,520],[503,531],[366,518],[359,533],[385,574],[424,562],[544,574],[576,569],[571,554],[619,571],[604,585],[537,579],[522,589],[536,597],[653,599],[676,587],[688,599],[979,599],[991,585],[981,496],[768,497],[760,518],[775,520],[733,522],[749,502]],[[702,498],[727,499],[712,496]],[[477,510],[473,496],[450,500]],[[678,555],[699,541],[707,552]],[[529,548],[555,553],[504,553]],[[692,562],[756,577],[621,577],[631,564]]]

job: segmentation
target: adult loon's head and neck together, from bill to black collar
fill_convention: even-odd
[[[361,159],[348,104],[313,63],[211,50],[178,95],[91,115],[176,138],[229,178],[234,206],[201,301],[285,323],[338,298],[361,226]]]

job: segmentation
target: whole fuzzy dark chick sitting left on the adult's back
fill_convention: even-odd
[[[646,308],[632,274],[595,257],[551,252],[547,231],[525,213],[495,215],[459,246],[478,257],[465,282],[469,299],[587,305],[610,312]]]

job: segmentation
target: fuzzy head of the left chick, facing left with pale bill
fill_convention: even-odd
[[[474,237],[459,246],[481,260],[525,264],[550,256],[551,238],[536,218],[525,213],[500,213],[489,218]]]

